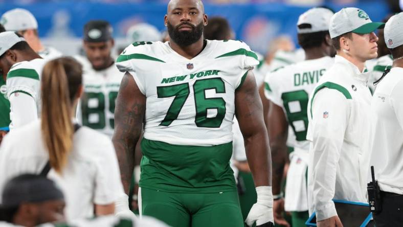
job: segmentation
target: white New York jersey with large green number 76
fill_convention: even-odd
[[[232,141],[235,91],[259,61],[241,41],[206,41],[192,59],[169,42],[135,42],[118,57],[118,69],[146,96],[144,138],[192,146]]]

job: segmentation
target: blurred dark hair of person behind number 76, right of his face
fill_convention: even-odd
[[[204,28],[205,39],[224,40],[228,39],[229,36],[231,36],[231,27],[226,18],[209,18],[209,24]]]

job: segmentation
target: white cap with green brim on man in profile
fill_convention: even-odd
[[[368,14],[359,8],[343,8],[330,19],[330,38],[338,37],[347,32],[367,34],[383,28],[385,23],[372,22]]]

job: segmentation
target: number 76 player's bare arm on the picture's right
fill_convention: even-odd
[[[270,147],[263,120],[262,102],[251,71],[248,72],[242,86],[235,92],[235,114],[245,142],[255,186],[271,186]]]

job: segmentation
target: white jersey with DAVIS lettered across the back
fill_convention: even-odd
[[[266,75],[265,96],[283,108],[293,130],[293,146],[296,148],[309,149],[309,142],[306,141],[309,97],[319,79],[333,63],[334,59],[331,57],[305,60]]]

